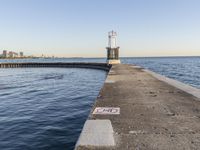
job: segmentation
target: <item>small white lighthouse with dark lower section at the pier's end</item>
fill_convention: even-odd
[[[117,46],[117,33],[114,31],[108,32],[108,47],[107,49],[107,63],[120,64],[119,47]]]

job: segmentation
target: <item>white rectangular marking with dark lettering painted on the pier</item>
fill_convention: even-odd
[[[96,115],[119,115],[119,107],[96,107],[93,111],[93,114]]]

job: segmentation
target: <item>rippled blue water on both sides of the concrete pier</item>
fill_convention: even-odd
[[[122,58],[200,88],[200,57]],[[105,62],[24,59],[0,62]],[[0,150],[71,150],[106,73],[92,69],[0,69]]]

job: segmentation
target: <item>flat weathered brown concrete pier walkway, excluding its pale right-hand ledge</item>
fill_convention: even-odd
[[[75,149],[199,148],[200,99],[142,68],[119,64],[112,66]]]

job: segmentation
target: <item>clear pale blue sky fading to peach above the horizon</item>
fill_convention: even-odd
[[[0,53],[105,57],[200,56],[199,0],[0,0]]]

